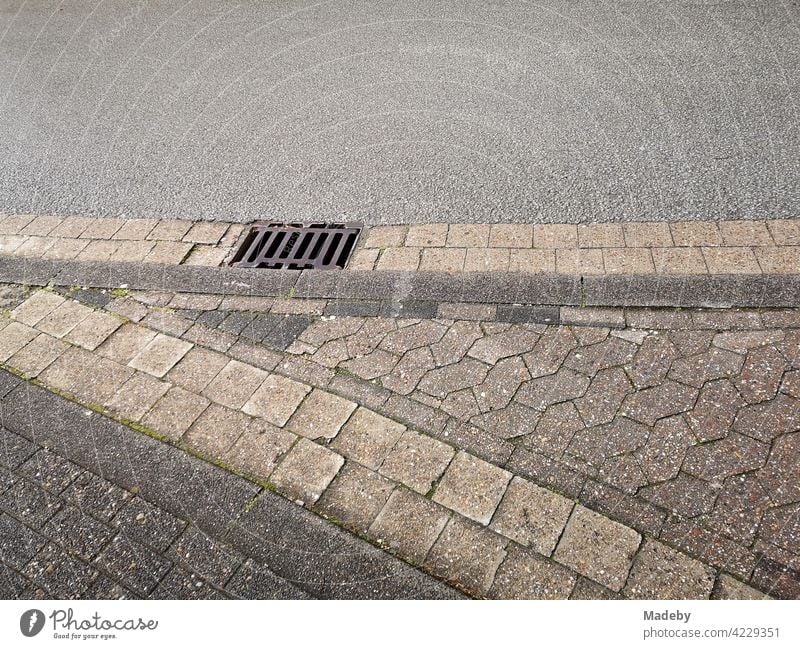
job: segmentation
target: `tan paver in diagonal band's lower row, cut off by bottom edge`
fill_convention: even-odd
[[[512,547],[495,574],[492,599],[567,599],[575,573],[535,552]]]

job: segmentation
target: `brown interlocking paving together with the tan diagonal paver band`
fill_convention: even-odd
[[[8,289],[0,360],[473,595],[798,594],[796,311],[567,327],[123,293]]]

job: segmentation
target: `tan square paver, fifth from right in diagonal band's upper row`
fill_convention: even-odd
[[[488,525],[511,477],[508,471],[461,451],[445,471],[433,500]]]

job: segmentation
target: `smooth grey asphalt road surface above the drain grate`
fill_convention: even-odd
[[[800,215],[789,0],[0,0],[0,210]]]

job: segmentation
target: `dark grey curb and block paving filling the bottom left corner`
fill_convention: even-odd
[[[449,598],[259,486],[0,370],[5,599]]]

